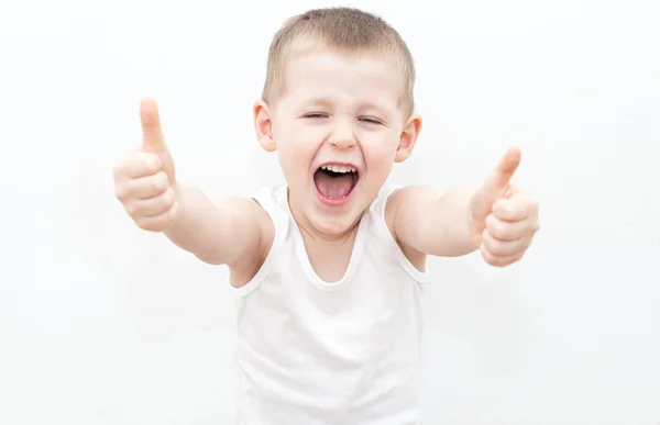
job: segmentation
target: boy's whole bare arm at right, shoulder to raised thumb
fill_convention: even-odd
[[[386,209],[395,238],[432,256],[480,249],[493,266],[519,260],[539,230],[537,201],[509,182],[519,163],[520,152],[509,149],[476,190],[452,189],[441,197],[421,187],[395,192]]]

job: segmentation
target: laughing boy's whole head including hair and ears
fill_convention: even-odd
[[[373,14],[311,10],[276,33],[255,128],[278,152],[297,220],[341,233],[360,219],[415,145],[414,86],[408,47]]]

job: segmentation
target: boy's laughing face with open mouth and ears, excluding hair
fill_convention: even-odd
[[[408,157],[421,120],[405,115],[403,77],[385,55],[293,55],[283,89],[275,104],[255,105],[260,143],[277,150],[300,224],[341,234]]]

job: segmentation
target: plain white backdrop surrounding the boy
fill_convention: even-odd
[[[0,423],[231,423],[227,270],[138,230],[112,166],[153,96],[180,179],[282,181],[252,103],[277,27],[327,5],[415,55],[425,126],[394,182],[479,184],[518,145],[541,205],[521,262],[431,260],[426,424],[660,423],[656,0],[1,3]]]

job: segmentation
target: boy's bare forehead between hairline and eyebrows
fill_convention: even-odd
[[[299,103],[310,99],[371,103],[396,109],[404,78],[393,55],[376,52],[342,53],[332,48],[293,49],[283,69],[282,94]]]

